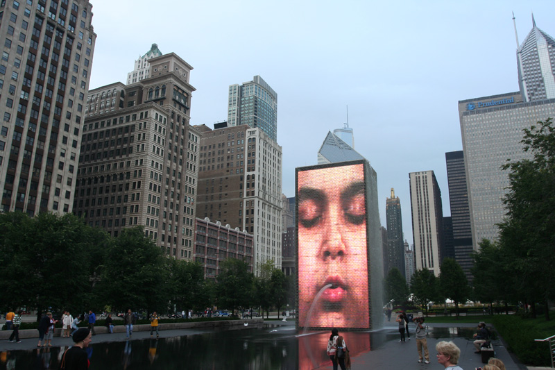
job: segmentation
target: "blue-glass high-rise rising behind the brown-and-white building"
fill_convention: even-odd
[[[278,142],[278,94],[260,76],[242,85],[230,85],[228,126],[260,128]]]

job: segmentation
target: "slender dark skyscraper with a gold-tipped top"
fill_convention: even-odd
[[[391,198],[386,199],[386,222],[387,222],[387,275],[389,270],[396,267],[403,276],[407,277],[404,270],[404,244],[403,223],[401,217],[401,201],[395,196],[395,190],[391,188]]]

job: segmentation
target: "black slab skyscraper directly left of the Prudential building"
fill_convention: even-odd
[[[462,267],[466,278],[472,280],[472,227],[470,226],[470,208],[468,205],[468,187],[464,171],[464,152],[445,153],[447,164],[447,185],[449,186],[449,203],[453,224],[454,258]]]

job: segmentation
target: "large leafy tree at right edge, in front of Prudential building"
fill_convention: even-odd
[[[523,130],[524,153],[531,159],[502,167],[509,170],[509,192],[504,197],[506,219],[499,224],[500,243],[513,258],[522,284],[518,290],[528,303],[555,299],[555,127],[551,118]],[[532,306],[534,306],[532,304]],[[549,310],[545,310],[549,320]]]

